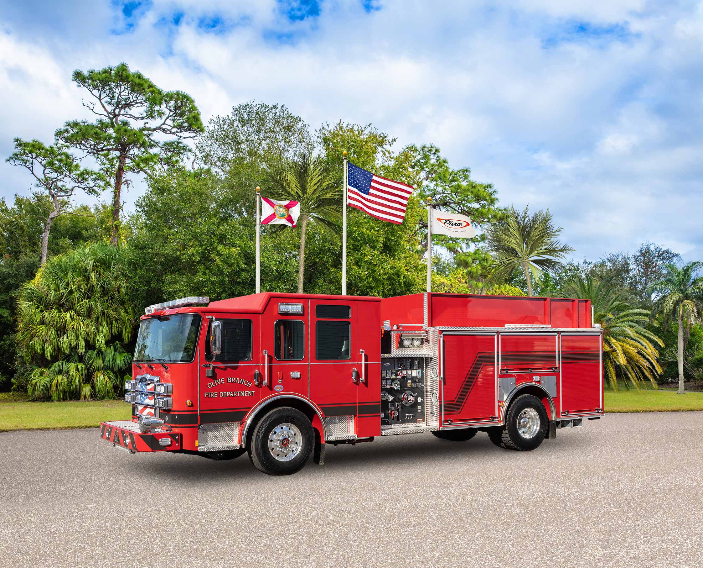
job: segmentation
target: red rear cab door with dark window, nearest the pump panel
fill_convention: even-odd
[[[357,390],[360,384],[368,384],[368,365],[361,361],[366,354],[359,353],[356,337],[356,315],[355,301],[310,302],[310,398],[325,416],[347,417],[348,434],[355,433]]]

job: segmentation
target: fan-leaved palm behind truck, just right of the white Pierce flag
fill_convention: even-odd
[[[562,227],[555,227],[549,210],[530,215],[527,206],[522,211],[510,206],[505,217],[490,225],[486,231],[486,244],[494,256],[493,277],[505,280],[518,266],[527,278],[527,295],[532,296],[533,277],[542,270],[556,270],[574,249],[557,240]]]

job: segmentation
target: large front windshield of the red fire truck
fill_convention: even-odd
[[[142,320],[135,361],[191,362],[198,341],[200,315],[182,314]]]

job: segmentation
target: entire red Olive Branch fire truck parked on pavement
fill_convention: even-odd
[[[330,443],[426,431],[533,450],[602,415],[602,330],[578,299],[190,297],[146,308],[132,377],[132,419],[101,424],[129,453],[291,474]]]

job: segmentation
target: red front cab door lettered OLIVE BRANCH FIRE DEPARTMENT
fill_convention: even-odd
[[[222,327],[218,355],[210,351],[213,319]],[[199,370],[200,423],[240,422],[261,398],[259,316],[214,314],[207,325],[204,353],[204,365]]]

